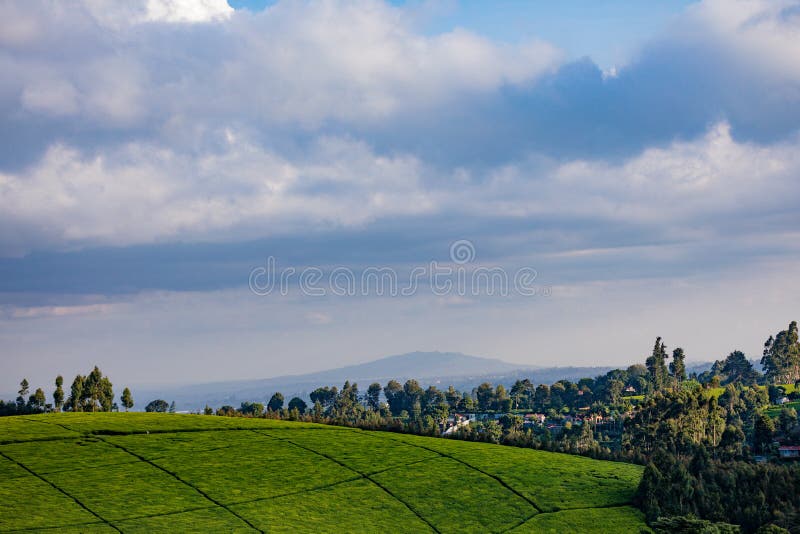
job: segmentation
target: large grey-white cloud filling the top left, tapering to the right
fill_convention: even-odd
[[[500,45],[465,30],[422,35],[402,9],[377,0],[281,2],[256,14],[234,14],[224,0],[85,0],[71,9],[3,11],[0,34],[8,31],[14,51],[6,70],[24,108],[80,110],[76,120],[101,128],[219,114],[362,123],[529,83],[560,58],[539,41]],[[187,24],[194,22],[207,24]],[[54,77],[73,88],[61,101],[57,88],[43,93]]]

